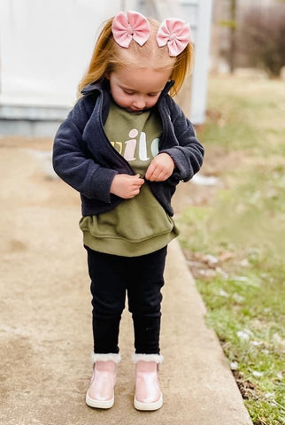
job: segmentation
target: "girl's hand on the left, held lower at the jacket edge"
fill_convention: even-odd
[[[110,187],[110,193],[129,199],[140,193],[143,183],[144,180],[140,178],[140,174],[116,174]]]

